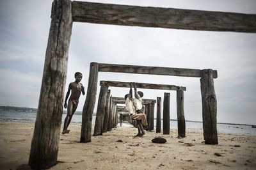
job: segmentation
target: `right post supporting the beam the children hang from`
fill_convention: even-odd
[[[184,91],[177,90],[177,121],[178,121],[178,136],[186,137],[186,122],[184,116]]]

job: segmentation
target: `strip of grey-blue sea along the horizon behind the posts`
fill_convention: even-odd
[[[64,121],[66,112],[63,113],[62,122]],[[95,117],[93,116],[92,123],[95,122]],[[24,123],[34,123],[36,119],[36,112],[29,111],[3,111],[0,110],[0,121],[9,122],[24,122]],[[82,123],[81,112],[76,112],[72,118],[71,123]],[[154,121],[156,130],[156,120]],[[163,126],[163,122],[162,122]],[[170,128],[177,129],[177,121],[170,120]],[[186,129],[193,130],[203,130],[203,123],[197,121],[186,121]],[[256,128],[252,128],[252,125],[236,125],[228,123],[218,123],[217,124],[218,133],[227,134],[243,134],[243,135],[256,135]]]

